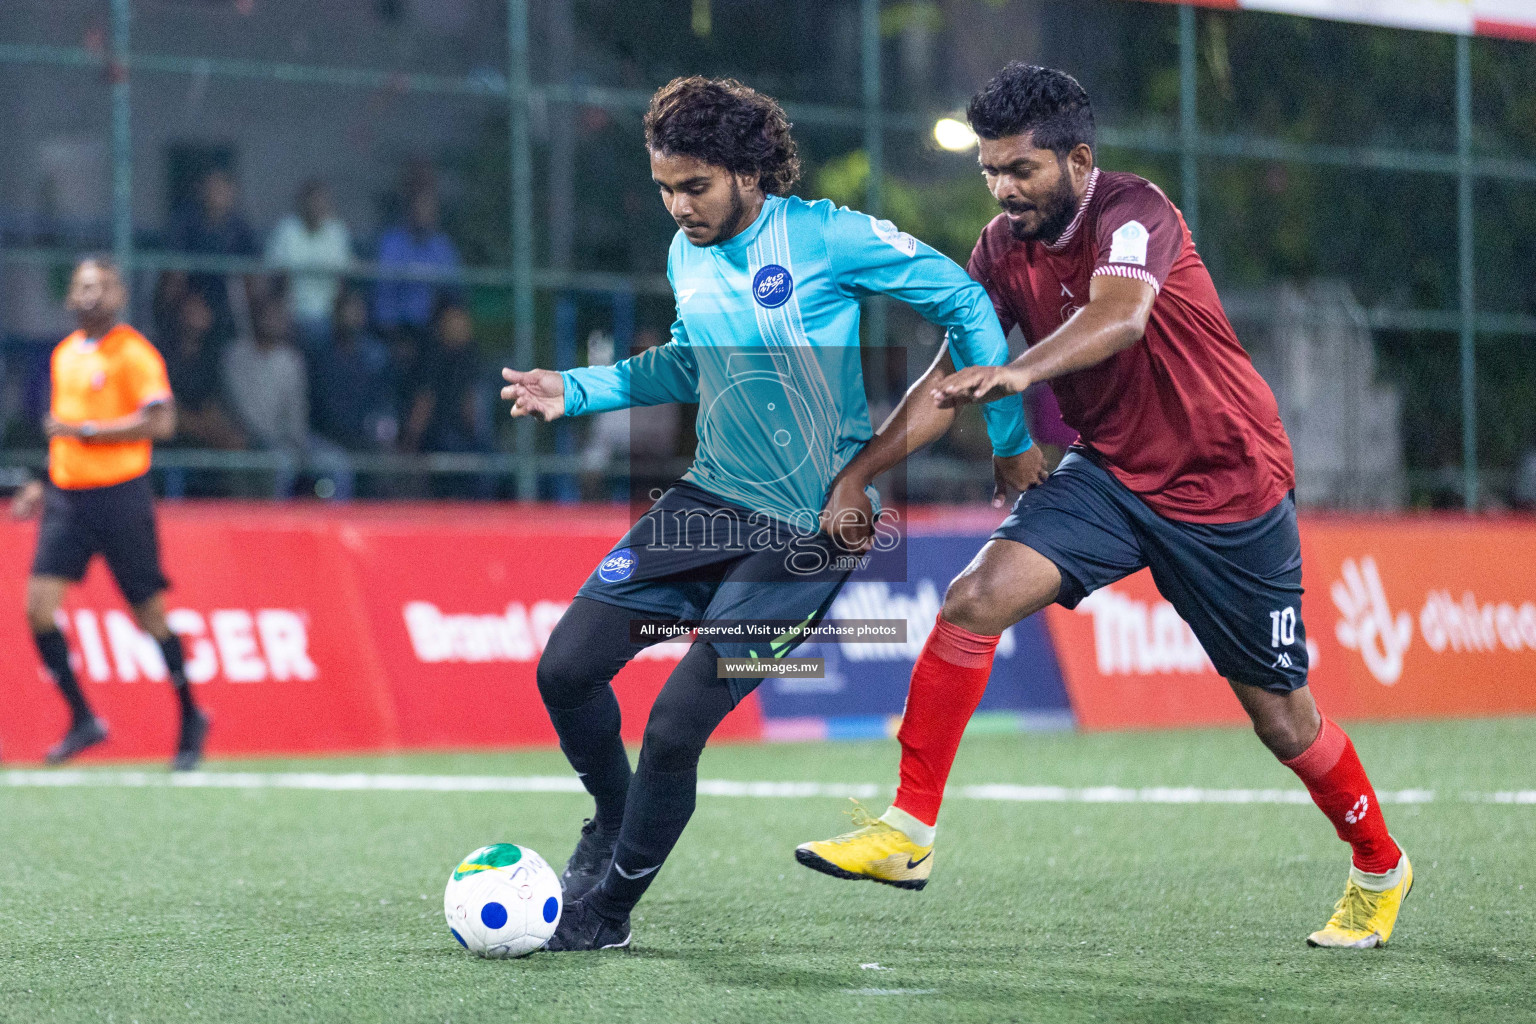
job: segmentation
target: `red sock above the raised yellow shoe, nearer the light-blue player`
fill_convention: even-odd
[[[902,785],[895,806],[923,824],[938,821],[945,783],[965,726],[975,714],[992,674],[1000,637],[971,633],[938,616],[912,666],[906,711],[895,738],[902,742]]]

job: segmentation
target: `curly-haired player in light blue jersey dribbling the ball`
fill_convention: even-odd
[[[774,100],[679,78],[651,98],[645,141],[679,227],[671,341],[613,367],[502,372],[513,416],[699,404],[693,467],[602,559],[539,659],[561,749],[596,803],[565,866],[553,950],[628,944],[630,910],[693,814],[710,734],[879,543],[874,459],[862,453],[909,454],[954,416],[926,399],[932,387],[957,367],[1008,361],[992,304],[963,269],[889,221],[790,195],[799,158]],[[879,431],[859,356],[859,301],[872,295],[948,330]],[[983,415],[1001,504],[1044,479],[1043,461],[1017,395]],[[610,680],[665,639],[645,622],[736,631],[696,637],[651,708],[631,774]]]

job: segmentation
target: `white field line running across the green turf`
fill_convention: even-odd
[[[141,772],[141,771],[0,771],[0,789],[312,789],[321,792],[582,792],[568,775],[376,775],[369,772]],[[876,783],[786,783],[699,780],[703,797],[857,797],[891,792]],[[1261,803],[1309,804],[1306,789],[1203,789],[1195,786],[951,786],[949,798],[1001,803]],[[1379,791],[1381,803],[1435,803],[1433,789]],[[1465,803],[1536,804],[1536,789],[1464,792]]]

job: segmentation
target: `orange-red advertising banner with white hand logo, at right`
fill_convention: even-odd
[[[1310,685],[1324,712],[1536,712],[1536,522],[1303,516],[1301,543]],[[1046,619],[1080,726],[1246,720],[1149,573]]]

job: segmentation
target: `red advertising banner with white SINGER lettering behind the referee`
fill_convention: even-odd
[[[628,527],[625,508],[160,507],[170,626],[214,715],[223,755],[554,743],[535,666],[576,588]],[[0,757],[28,763],[65,731],[22,609],[35,524],[0,524]],[[75,672],[111,740],[100,758],[163,758],[175,703],[157,645],[106,568],[65,603]],[[625,738],[684,643],[657,645],[614,680]],[[760,735],[756,697],[722,738]]]

